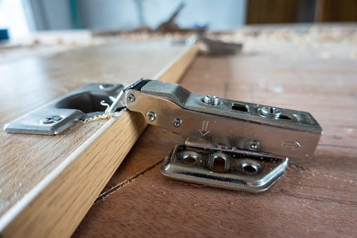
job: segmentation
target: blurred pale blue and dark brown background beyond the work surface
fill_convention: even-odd
[[[357,21],[356,0],[0,0],[0,38],[43,30],[157,29],[175,15],[182,28]]]

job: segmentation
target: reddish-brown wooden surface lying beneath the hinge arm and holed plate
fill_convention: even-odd
[[[241,55],[201,55],[189,91],[311,112],[323,128],[311,159],[290,159],[252,194],[161,175],[185,138],[149,126],[73,237],[353,237],[357,235],[357,60],[351,43],[247,39]]]

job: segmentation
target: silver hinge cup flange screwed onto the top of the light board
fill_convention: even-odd
[[[102,100],[112,104],[121,93],[121,84],[88,84],[58,98],[4,126],[9,133],[55,135],[65,131],[74,121],[103,114],[107,107]]]

